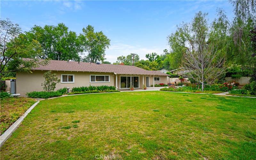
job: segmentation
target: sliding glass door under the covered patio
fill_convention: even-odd
[[[139,88],[139,76],[132,76],[133,88]],[[131,76],[120,76],[120,88],[127,89],[131,87]]]

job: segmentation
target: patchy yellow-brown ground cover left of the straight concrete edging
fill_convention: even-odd
[[[0,134],[2,135],[36,101],[31,98],[7,98],[1,100]]]

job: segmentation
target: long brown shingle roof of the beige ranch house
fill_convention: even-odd
[[[75,62],[64,60],[49,60],[46,66],[32,68],[32,70],[55,70],[55,71],[81,71],[81,72],[108,72],[116,74],[131,75],[157,75],[169,76],[159,71],[149,71],[135,66],[114,65],[114,64],[96,64],[89,62]]]

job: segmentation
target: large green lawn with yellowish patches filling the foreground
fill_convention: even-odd
[[[117,92],[41,101],[1,159],[254,159],[256,99]]]

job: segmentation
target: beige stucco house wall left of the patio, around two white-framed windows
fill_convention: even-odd
[[[46,71],[32,71],[33,73],[16,73],[16,92],[20,93],[21,96],[26,96],[27,92],[32,91],[43,91],[42,83],[44,82],[44,73]],[[56,89],[63,87],[79,87],[89,85],[114,85],[114,73],[99,73],[99,72],[64,72],[64,71],[52,71],[56,73],[57,77],[61,79],[61,74],[73,74],[75,83],[59,83],[56,85]],[[110,82],[105,83],[90,83],[90,75],[110,75]]]

